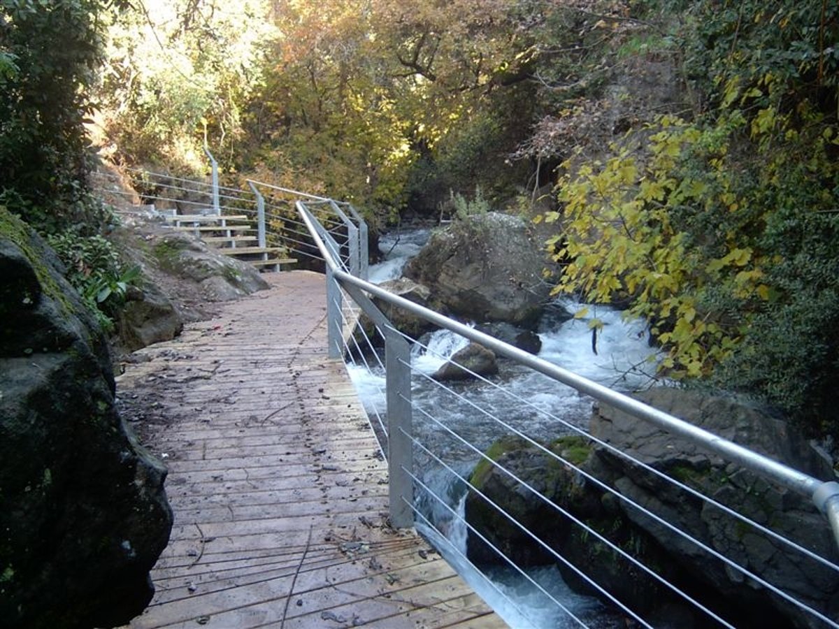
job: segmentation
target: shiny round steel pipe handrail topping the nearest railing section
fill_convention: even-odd
[[[683,439],[687,439],[693,444],[700,445],[706,450],[710,450],[716,455],[721,456],[725,460],[732,461],[738,465],[742,465],[748,470],[758,473],[758,475],[778,483],[795,493],[805,496],[810,499],[816,507],[826,515],[827,521],[830,523],[833,537],[839,546],[839,482],[836,481],[821,481],[813,476],[809,476],[804,472],[795,470],[795,468],[780,463],[779,461],[770,459],[767,456],[760,455],[757,452],[748,450],[742,445],[736,444],[729,439],[713,434],[706,429],[701,429],[698,426],[686,422],[684,419],[677,418],[670,413],[664,413],[657,408],[653,408],[648,404],[640,402],[637,399],[630,398],[628,395],[613,391],[598,382],[593,382],[586,377],[579,376],[563,367],[555,365],[554,363],[545,361],[538,356],[533,356],[529,352],[520,350],[518,347],[508,345],[508,343],[498,340],[490,335],[484,334],[475,330],[468,325],[451,320],[443,314],[435,312],[434,310],[414,304],[409,299],[399,297],[389,293],[376,284],[369,283],[361,278],[357,278],[350,273],[341,270],[335,260],[331,257],[330,252],[325,244],[320,240],[317,230],[314,226],[314,217],[310,215],[308,209],[302,201],[297,202],[300,216],[306,223],[310,230],[310,234],[315,240],[321,254],[326,260],[326,264],[331,268],[333,277],[339,283],[350,284],[357,289],[362,289],[367,294],[374,295],[378,299],[382,299],[388,304],[392,304],[400,309],[407,310],[409,313],[419,316],[420,318],[429,321],[430,323],[451,330],[456,334],[462,335],[469,340],[487,347],[501,356],[506,356],[513,361],[519,362],[524,366],[528,366],[536,372],[542,373],[547,377],[561,382],[569,387],[576,389],[579,392],[595,398],[600,402],[607,403],[614,408],[618,408],[625,413],[633,415],[640,419],[644,419],[651,424],[664,429],[670,434],[675,434]]]

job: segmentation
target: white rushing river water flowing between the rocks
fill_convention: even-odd
[[[405,262],[419,252],[428,236],[429,231],[416,230],[383,237],[379,247],[387,257],[370,268],[371,281],[380,283],[398,278]],[[562,305],[571,312],[581,308],[581,304],[571,301]],[[603,322],[597,338],[597,354],[591,348],[588,317]],[[644,325],[624,322],[621,313],[614,309],[591,307],[584,318],[545,325],[539,329],[539,338],[542,341],[539,357],[611,387],[631,390],[643,386],[649,381],[644,366],[647,371],[654,371],[646,361],[652,350],[647,344]],[[441,387],[431,380],[430,374],[463,346],[466,346],[465,339],[448,330],[439,330],[426,335],[412,348],[414,434],[439,459],[416,451],[414,467],[421,470],[422,481],[430,491],[444,496],[446,502],[440,504],[420,491],[418,506],[432,525],[418,522],[417,528],[510,626],[537,629],[579,626],[555,601],[587,626],[618,626],[620,621],[597,600],[569,590],[555,568],[529,571],[530,579],[545,594],[512,569],[494,570],[487,579],[465,561],[466,526],[455,514],[462,517],[466,486],[458,476],[468,478],[480,455],[464,442],[483,451],[498,437],[510,434],[510,429],[544,440],[570,434],[569,424],[587,427],[591,399],[506,360],[499,361],[500,373],[491,382],[446,383]],[[368,370],[363,365],[351,365],[349,369],[373,423],[384,421],[383,371]]]

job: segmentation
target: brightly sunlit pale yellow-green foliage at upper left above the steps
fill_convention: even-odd
[[[231,161],[275,37],[269,4],[145,0],[115,14],[98,98],[122,159],[197,173],[206,137]]]

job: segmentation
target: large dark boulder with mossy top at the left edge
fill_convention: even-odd
[[[59,268],[0,208],[0,618],[117,626],[154,593],[166,471],[117,415],[105,338]]]

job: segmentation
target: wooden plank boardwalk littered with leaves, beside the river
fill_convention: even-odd
[[[130,626],[506,626],[413,530],[389,528],[387,466],[326,358],[323,276],[267,277],[117,379],[121,398],[162,392],[143,400],[143,435],[175,511]]]

